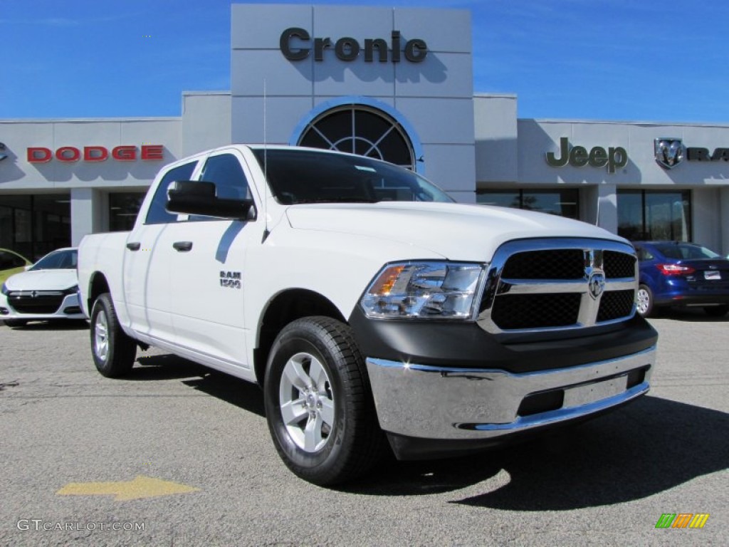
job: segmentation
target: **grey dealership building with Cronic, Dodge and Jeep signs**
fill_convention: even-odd
[[[231,142],[355,152],[458,201],[729,252],[729,125],[517,117],[473,87],[460,9],[233,4],[230,91],[179,117],[0,120],[0,247],[127,230],[160,167]],[[728,222],[723,222],[728,219]]]

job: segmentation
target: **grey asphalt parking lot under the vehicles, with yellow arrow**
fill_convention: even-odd
[[[636,403],[342,489],[289,473],[257,387],[155,350],[105,379],[85,324],[0,326],[0,545],[724,546],[729,319],[651,321],[658,366]],[[709,517],[656,528],[663,513]]]

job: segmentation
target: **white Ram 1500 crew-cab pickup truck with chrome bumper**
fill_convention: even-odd
[[[257,382],[278,454],[321,485],[388,445],[445,457],[594,416],[655,365],[627,241],[323,150],[166,166],[131,232],[83,239],[79,287],[101,374],[157,346]]]

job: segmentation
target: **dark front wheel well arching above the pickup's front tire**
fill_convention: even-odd
[[[290,322],[313,315],[323,315],[346,323],[346,319],[337,309],[337,306],[318,292],[311,290],[287,290],[276,295],[268,304],[261,321],[258,347],[254,352],[256,378],[261,386],[265,377],[268,352],[270,352],[278,333]]]

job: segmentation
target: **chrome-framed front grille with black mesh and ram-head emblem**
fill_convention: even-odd
[[[578,261],[580,269],[574,266]],[[592,238],[508,241],[488,267],[477,324],[495,334],[609,325],[634,316],[637,289],[638,261],[630,244]],[[530,298],[534,306],[525,306]]]

